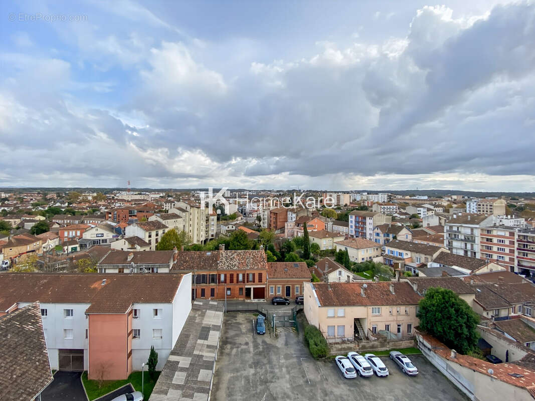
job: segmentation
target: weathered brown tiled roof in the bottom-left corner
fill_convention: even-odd
[[[2,400],[34,399],[52,381],[39,303],[0,318]]]

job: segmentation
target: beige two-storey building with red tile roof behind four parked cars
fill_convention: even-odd
[[[328,342],[410,338],[420,299],[407,282],[304,284],[305,315]]]

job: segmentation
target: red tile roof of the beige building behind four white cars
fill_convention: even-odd
[[[421,296],[407,282],[314,283],[321,306],[416,305]],[[361,289],[364,288],[364,296]],[[390,286],[393,286],[394,293]]]

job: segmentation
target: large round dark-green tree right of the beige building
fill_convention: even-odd
[[[479,317],[465,300],[445,288],[431,287],[419,302],[419,328],[463,354],[477,345]]]

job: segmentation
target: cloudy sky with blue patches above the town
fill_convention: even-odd
[[[0,0],[0,186],[535,191],[535,2]]]

